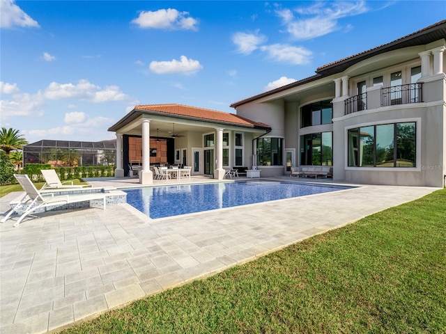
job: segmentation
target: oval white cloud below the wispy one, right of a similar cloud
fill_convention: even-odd
[[[261,47],[262,51],[268,53],[273,61],[291,63],[293,65],[307,64],[312,56],[312,51],[304,47],[293,47],[286,44],[273,44]]]

